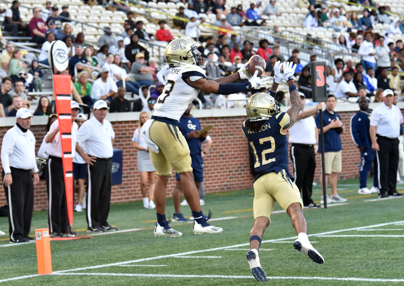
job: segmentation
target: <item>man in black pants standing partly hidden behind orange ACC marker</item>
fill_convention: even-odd
[[[78,125],[75,122],[78,111],[81,110],[76,101],[70,102],[72,109],[72,156],[76,155],[76,133]],[[46,190],[49,198],[48,224],[50,237],[61,238],[76,236],[77,232],[70,230],[67,216],[67,202],[65,190],[65,175],[62,163],[62,143],[59,133],[59,119],[50,125],[45,136],[48,163],[46,164]],[[72,186],[73,189],[73,186]]]

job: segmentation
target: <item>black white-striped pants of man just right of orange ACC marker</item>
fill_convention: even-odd
[[[89,228],[107,226],[111,202],[111,159],[100,159],[87,166],[87,223]]]

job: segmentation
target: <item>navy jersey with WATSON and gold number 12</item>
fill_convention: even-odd
[[[289,173],[288,140],[282,129],[290,123],[290,117],[286,112],[278,112],[265,121],[259,130],[250,131],[243,123],[243,132],[250,143],[250,152],[254,155],[254,169],[257,178],[265,173],[275,171],[276,173],[285,170]],[[285,178],[286,179],[286,178]],[[254,180],[254,181],[255,181]]]

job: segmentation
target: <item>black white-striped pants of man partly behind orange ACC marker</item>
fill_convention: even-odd
[[[63,174],[62,158],[49,156],[46,165],[46,190],[48,192],[49,210],[48,224],[50,233],[70,232],[67,217],[67,202],[65,191],[65,176]]]

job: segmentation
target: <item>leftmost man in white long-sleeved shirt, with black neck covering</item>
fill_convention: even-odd
[[[10,243],[35,240],[28,234],[34,209],[34,185],[39,182],[35,137],[28,130],[31,127],[31,117],[34,116],[28,109],[20,108],[16,117],[16,125],[4,134],[3,143],[7,144],[1,146],[3,186],[9,207]],[[32,182],[32,170],[34,182]]]

